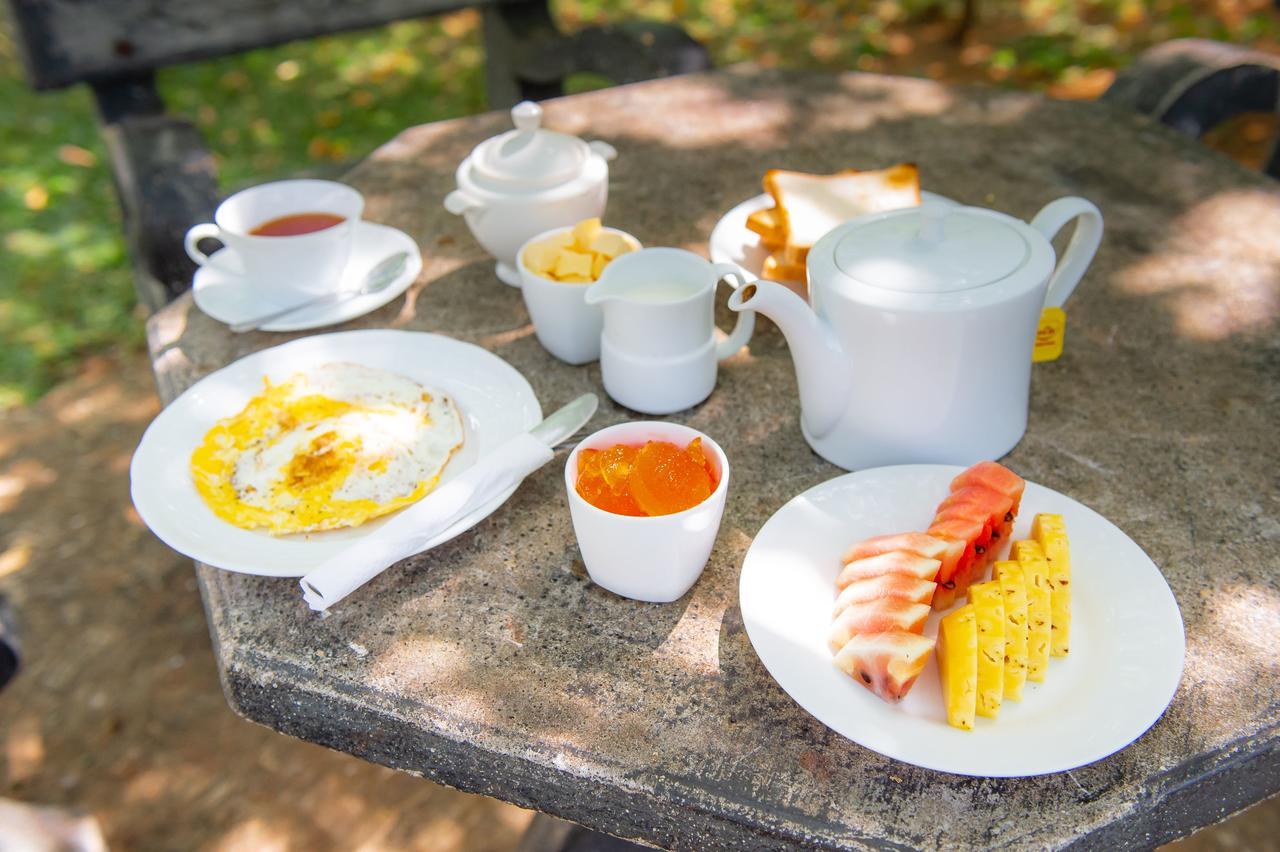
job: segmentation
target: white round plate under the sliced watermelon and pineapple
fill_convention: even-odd
[[[1021,701],[1005,702],[998,719],[979,718],[966,732],[946,723],[934,659],[899,705],[879,700],[832,664],[827,628],[841,554],[870,536],[925,528],[963,469],[904,464],[859,471],[778,509],[755,536],[739,585],[755,652],[819,722],[925,769],[1044,775],[1124,748],[1161,716],[1181,678],[1185,640],[1178,603],[1129,536],[1034,482],[1027,482],[1014,540],[1028,537],[1037,512],[1061,513],[1071,539],[1071,654],[1050,659],[1043,683],[1028,682]],[[940,617],[929,617],[925,636],[937,636]]]

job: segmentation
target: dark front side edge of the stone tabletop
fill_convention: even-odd
[[[206,601],[218,594],[204,580],[201,586],[210,592],[206,595]],[[233,659],[227,659],[219,655],[223,664],[220,669],[223,690],[232,710],[250,722],[463,792],[493,796],[521,807],[567,819],[614,837],[646,844],[652,844],[653,838],[660,837],[663,848],[672,849],[794,848],[792,844],[829,849],[919,848],[865,837],[854,839],[858,846],[849,846],[849,838],[831,837],[822,832],[822,825],[805,825],[810,820],[781,817],[773,825],[754,825],[744,819],[735,819],[732,807],[712,810],[692,801],[680,802],[660,796],[652,785],[631,794],[617,787],[602,788],[612,794],[622,793],[622,800],[614,801],[613,806],[608,807],[585,810],[563,807],[562,802],[588,801],[579,794],[584,782],[581,777],[572,775],[570,777],[572,780],[566,784],[564,770],[509,752],[477,750],[470,743],[404,719],[392,707],[356,702],[343,693],[340,688],[343,684],[335,683],[330,691],[300,688],[296,682],[283,682],[282,686],[275,682],[274,673],[280,667],[291,667],[288,661],[271,660],[273,665],[266,665],[266,659],[257,659],[262,655],[255,652],[232,656]],[[259,677],[262,673],[268,677]],[[273,707],[273,697],[276,701],[288,700],[294,707],[320,706],[321,711],[305,715],[282,714]],[[347,713],[348,710],[351,713]],[[411,752],[398,756],[394,751],[365,747],[366,743],[378,743],[385,737],[370,737],[370,729],[360,724],[361,714],[375,714],[380,725],[399,732],[396,742],[412,742]],[[340,728],[325,724],[333,719],[349,723]],[[348,734],[349,738],[334,738],[332,734],[338,732]],[[493,760],[486,762],[472,759],[477,751]],[[451,760],[444,764],[424,765],[421,759],[426,755],[444,755]],[[690,787],[687,778],[672,775],[655,778],[669,782],[672,788]],[[492,783],[476,783],[476,779],[490,779]],[[502,782],[512,779],[520,779],[522,784],[503,785]],[[1248,783],[1239,783],[1240,780]],[[1280,792],[1280,725],[1252,737],[1242,737],[1211,753],[1178,764],[1155,778],[1152,785],[1158,787],[1158,792],[1129,802],[1120,816],[1101,825],[1087,826],[1083,830],[1073,826],[1066,835],[1052,838],[1043,837],[1043,832],[1021,834],[1004,838],[1001,844],[1006,848],[1047,846],[1069,849],[1114,849],[1134,846],[1151,848],[1185,837],[1204,825],[1219,823]],[[547,794],[545,791],[549,789],[558,792]],[[710,794],[701,785],[694,789]],[[635,812],[627,803],[632,797],[648,800],[649,812],[658,819],[655,821],[618,819],[620,812]],[[732,800],[722,803],[736,805]],[[1171,817],[1172,821],[1167,815],[1170,807],[1178,809]],[[696,819],[696,825],[691,826],[690,817]]]

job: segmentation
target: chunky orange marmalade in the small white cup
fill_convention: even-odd
[[[718,477],[695,438],[680,449],[669,441],[614,444],[577,454],[579,495],[614,514],[652,517],[690,509],[712,495]]]

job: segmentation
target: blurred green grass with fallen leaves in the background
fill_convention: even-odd
[[[3,6],[0,6],[3,8]],[[1270,0],[982,0],[970,47],[920,51],[960,0],[561,0],[564,28],[680,22],[717,64],[860,68],[1043,88],[1199,36],[1271,47]],[[5,14],[5,13],[0,13]],[[920,55],[916,55],[919,51]],[[221,184],[339,174],[398,129],[485,109],[480,18],[462,12],[168,69],[161,90],[204,132]],[[590,84],[590,83],[585,83]],[[83,88],[24,84],[0,22],[0,408],[38,397],[84,353],[136,347],[119,212]]]

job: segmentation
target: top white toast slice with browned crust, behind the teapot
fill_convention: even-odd
[[[773,196],[786,249],[808,251],[823,234],[855,216],[919,205],[920,173],[910,162],[833,175],[771,169],[764,173],[764,189]]]

